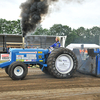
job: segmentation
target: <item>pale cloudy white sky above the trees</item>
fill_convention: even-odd
[[[25,1],[0,0],[0,18],[20,19],[19,6]],[[49,7],[49,14],[41,22],[42,27],[47,29],[54,24],[67,25],[75,29],[100,27],[100,0],[59,0]]]

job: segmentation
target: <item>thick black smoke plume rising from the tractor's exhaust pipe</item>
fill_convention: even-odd
[[[20,5],[23,36],[35,30],[42,17],[48,13],[49,4],[54,1],[57,0],[26,0]]]

